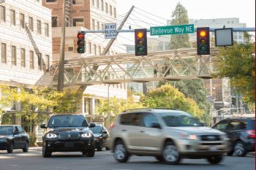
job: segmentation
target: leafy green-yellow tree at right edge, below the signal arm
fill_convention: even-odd
[[[255,43],[251,35],[244,34],[244,44],[234,43],[230,47],[220,47],[214,60],[217,67],[215,77],[229,77],[232,88],[243,94],[244,101],[251,105],[255,103]]]

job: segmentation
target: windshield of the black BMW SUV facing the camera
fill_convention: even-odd
[[[48,127],[87,127],[86,118],[82,115],[59,115],[50,117]]]

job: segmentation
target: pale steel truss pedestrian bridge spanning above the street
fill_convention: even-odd
[[[120,54],[69,59],[64,64],[64,86],[207,79],[214,73],[211,61],[218,52],[211,48],[211,55],[197,55],[197,49],[190,48],[146,56]],[[58,73],[58,64],[53,64],[53,85],[57,85]]]

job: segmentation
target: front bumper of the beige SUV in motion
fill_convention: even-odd
[[[176,142],[176,144],[181,155],[200,158],[210,155],[222,155],[227,152],[228,140],[203,142],[182,139]]]

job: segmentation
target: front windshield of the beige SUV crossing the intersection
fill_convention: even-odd
[[[160,114],[167,126],[202,126],[187,112],[164,112]]]

